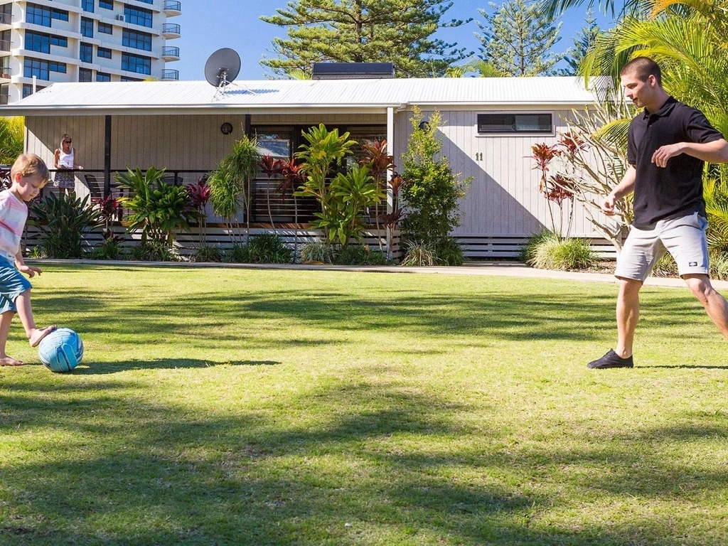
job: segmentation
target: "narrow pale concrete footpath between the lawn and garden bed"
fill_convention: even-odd
[[[513,262],[480,261],[471,262],[457,267],[403,267],[403,266],[333,266],[325,264],[220,264],[220,263],[194,263],[194,262],[160,262],[160,261],[130,261],[130,260],[50,260],[26,259],[27,263],[37,264],[93,264],[107,266],[151,266],[151,267],[224,267],[234,269],[294,269],[304,271],[355,271],[377,273],[411,273],[411,274],[448,274],[448,275],[494,275],[499,277],[525,277],[532,279],[563,279],[586,282],[611,282],[617,284],[617,279],[609,273],[587,273],[571,271],[552,271],[550,269],[534,269],[533,267]],[[645,286],[661,286],[685,288],[682,279],[672,277],[649,277]],[[728,281],[713,280],[716,290],[728,293]]]

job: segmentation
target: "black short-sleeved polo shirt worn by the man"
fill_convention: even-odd
[[[692,213],[705,215],[703,161],[688,154],[668,159],[667,167],[652,162],[654,151],[678,142],[706,143],[723,138],[699,110],[670,97],[660,110],[646,109],[630,122],[627,159],[635,165],[633,225],[648,227],[658,220]]]

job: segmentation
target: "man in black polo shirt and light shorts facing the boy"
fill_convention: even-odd
[[[634,220],[617,258],[617,347],[587,368],[632,368],[632,344],[639,318],[639,290],[667,250],[678,273],[705,306],[708,317],[728,338],[728,302],[711,286],[703,201],[704,162],[728,162],[728,142],[695,108],[662,89],[660,67],[638,57],[620,73],[625,94],[644,108],[630,122],[624,178],[601,208],[614,214],[614,202],[634,193]]]

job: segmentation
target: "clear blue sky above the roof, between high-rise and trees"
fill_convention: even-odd
[[[275,9],[285,7],[287,0],[182,0],[182,15],[170,19],[181,25],[180,39],[168,42],[180,48],[180,60],[167,63],[167,68],[180,72],[180,79],[205,79],[205,61],[215,50],[230,47],[240,55],[241,68],[237,79],[265,79],[266,71],[259,64],[264,56],[272,57],[271,41],[285,36],[280,28],[260,20],[261,15],[273,15]],[[483,21],[478,8],[488,8],[487,0],[454,0],[454,5],[443,19],[467,19]],[[586,7],[569,9],[562,17],[561,41],[557,52],[569,49],[579,28],[585,25]],[[612,17],[599,16],[601,28],[611,26]],[[453,42],[468,51],[478,52],[480,41],[475,38],[478,27],[475,21],[454,29],[441,29],[438,37]]]

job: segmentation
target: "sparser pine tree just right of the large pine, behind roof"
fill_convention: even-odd
[[[483,47],[481,57],[506,76],[547,76],[563,58],[551,48],[561,38],[561,23],[544,15],[537,0],[508,0],[490,4],[492,13],[478,9],[485,22],[476,21],[483,34],[476,33]]]

